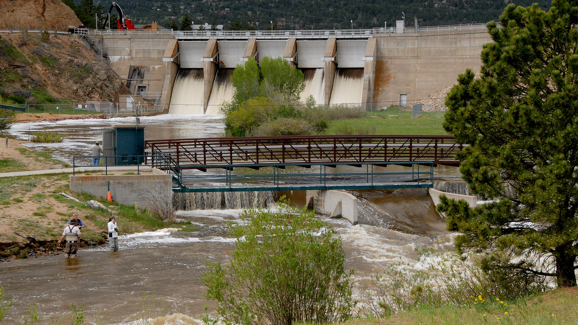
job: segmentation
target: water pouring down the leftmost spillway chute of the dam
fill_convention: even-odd
[[[204,93],[203,69],[179,69],[173,86],[169,114],[203,115]]]

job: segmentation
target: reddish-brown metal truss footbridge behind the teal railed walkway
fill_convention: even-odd
[[[161,152],[183,169],[223,165],[332,164],[344,162],[420,162],[459,165],[464,145],[454,136],[335,135],[166,139],[145,142],[145,152]]]

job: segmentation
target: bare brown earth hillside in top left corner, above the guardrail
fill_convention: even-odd
[[[69,25],[80,24],[60,0],[0,0],[0,29],[67,31]]]

